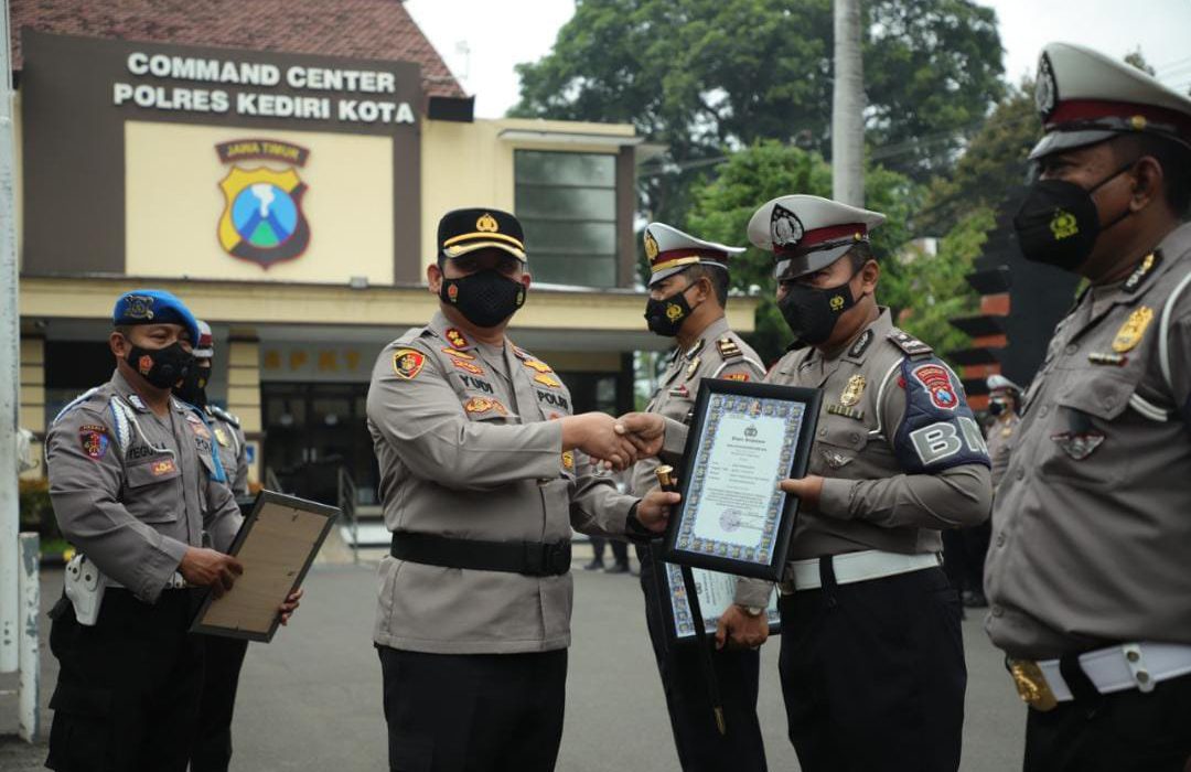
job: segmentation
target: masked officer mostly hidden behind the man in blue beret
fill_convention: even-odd
[[[235,416],[207,401],[211,359],[216,354],[214,337],[211,325],[202,319],[198,320],[198,328],[199,344],[193,350],[194,366],[174,393],[205,413],[227,484],[236,498],[243,500],[248,496],[244,432]],[[239,668],[248,652],[248,641],[222,635],[200,637],[205,647],[202,702],[199,706],[199,727],[194,734],[194,751],[191,753],[191,772],[226,771],[231,762],[231,720],[236,708],[236,687],[239,683]]]

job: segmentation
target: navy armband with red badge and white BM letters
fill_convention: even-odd
[[[966,463],[992,467],[980,425],[955,374],[940,360],[903,360],[905,416],[893,452],[910,474],[934,474]]]

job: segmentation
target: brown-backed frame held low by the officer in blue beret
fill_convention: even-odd
[[[278,608],[301,585],[339,510],[261,491],[227,554],[244,573],[223,597],[207,594],[192,633],[268,642],[278,631]]]

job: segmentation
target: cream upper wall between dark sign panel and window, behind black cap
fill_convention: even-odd
[[[505,118],[454,123],[426,120],[422,124],[422,275],[435,261],[438,219],[453,208],[492,206],[513,211],[516,150],[565,150],[606,152],[619,148],[606,144],[561,144],[542,139],[503,139],[503,131],[537,131],[568,135],[601,135],[631,138],[629,124],[596,124],[565,120]],[[530,254],[530,268],[534,256]]]

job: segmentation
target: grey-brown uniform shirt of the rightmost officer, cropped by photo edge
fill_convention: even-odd
[[[1012,656],[1191,645],[1191,291],[1160,335],[1189,274],[1185,224],[1080,298],[1027,392],[985,574],[986,629]]]

